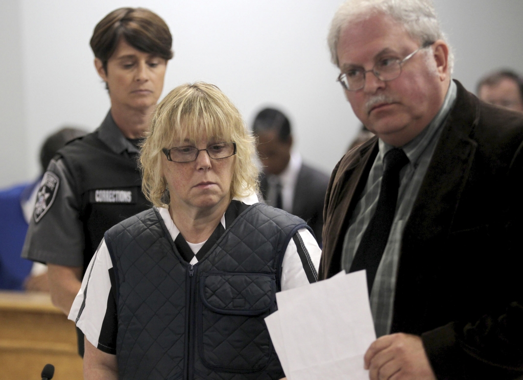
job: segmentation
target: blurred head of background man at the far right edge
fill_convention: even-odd
[[[523,112],[523,78],[513,71],[488,74],[477,84],[476,93],[487,103]]]

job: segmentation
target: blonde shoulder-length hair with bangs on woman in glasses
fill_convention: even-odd
[[[170,201],[162,170],[162,149],[185,139],[196,144],[201,136],[236,143],[231,199],[258,193],[254,137],[247,131],[240,112],[217,86],[196,82],[176,87],[160,102],[142,144],[142,190],[153,205],[158,207]]]

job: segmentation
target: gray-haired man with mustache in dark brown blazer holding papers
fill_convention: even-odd
[[[430,0],[348,0],[328,37],[374,134],[327,190],[321,279],[365,269],[371,379],[523,374],[523,117],[451,79]]]

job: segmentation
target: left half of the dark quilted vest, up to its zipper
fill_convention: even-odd
[[[154,222],[149,210],[111,231],[118,237],[113,252],[120,253],[117,352],[128,358],[118,362],[121,378],[166,379],[184,369],[185,268],[161,226],[149,227]]]

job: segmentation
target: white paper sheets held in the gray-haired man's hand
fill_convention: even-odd
[[[363,355],[376,340],[365,271],[276,294],[266,318],[289,380],[368,379]]]

